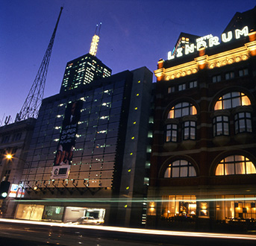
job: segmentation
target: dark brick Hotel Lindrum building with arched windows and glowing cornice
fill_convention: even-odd
[[[149,227],[255,228],[255,13],[158,62]]]

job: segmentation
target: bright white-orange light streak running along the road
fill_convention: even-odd
[[[98,225],[81,225],[81,224],[65,224],[57,222],[46,222],[46,221],[22,221],[16,219],[5,219],[0,218],[1,222],[17,223],[17,224],[37,224],[37,225],[48,225],[51,227],[72,227],[81,229],[96,229],[106,230],[119,233],[137,233],[137,234],[149,234],[158,236],[186,236],[186,237],[198,237],[198,238],[212,238],[212,239],[242,239],[242,240],[255,240],[256,235],[246,234],[227,234],[227,233],[196,233],[196,232],[185,232],[185,231],[173,231],[173,230],[150,230],[150,229],[138,229],[129,227],[109,227],[109,226],[98,226]]]

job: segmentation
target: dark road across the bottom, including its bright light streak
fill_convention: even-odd
[[[0,246],[256,245],[256,235],[189,233],[0,219]]]

